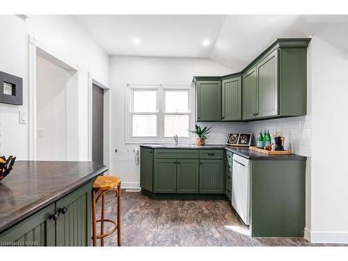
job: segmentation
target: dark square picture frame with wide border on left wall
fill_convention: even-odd
[[[23,79],[0,72],[0,102],[23,105]]]

